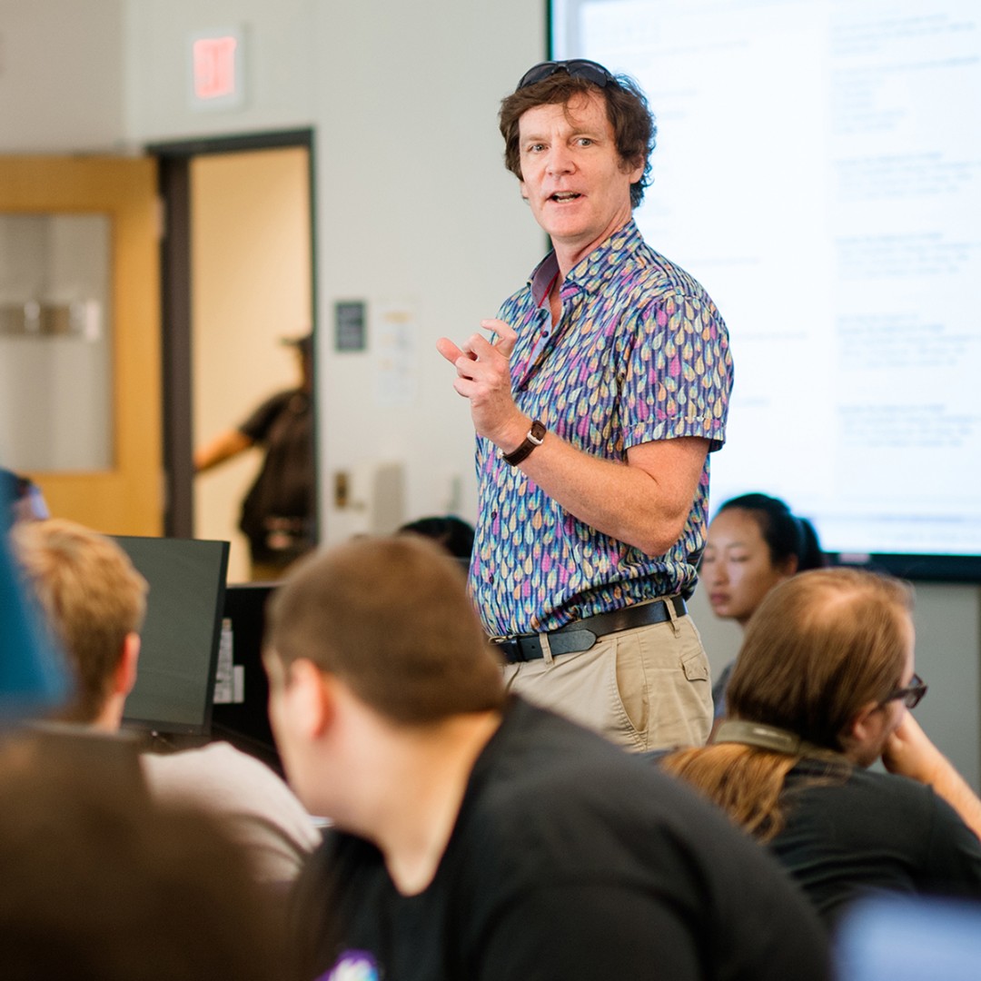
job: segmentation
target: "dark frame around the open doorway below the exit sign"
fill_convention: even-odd
[[[310,330],[314,336],[314,466],[319,475],[317,439],[317,200],[313,129],[284,129],[231,136],[202,136],[179,142],[151,143],[145,152],[157,159],[163,234],[160,240],[161,354],[164,429],[164,534],[194,535],[193,405],[191,392],[191,207],[190,168],[195,157],[248,150],[302,147],[309,163]],[[319,477],[318,477],[319,483]],[[318,493],[318,500],[320,494]],[[319,513],[314,534],[321,540]]]

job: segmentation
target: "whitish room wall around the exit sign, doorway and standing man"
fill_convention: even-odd
[[[83,29],[66,13],[81,8]],[[191,112],[187,36],[237,24],[249,29],[247,105]],[[328,537],[364,524],[359,512],[331,506],[332,474],[389,460],[404,465],[408,517],[443,510],[454,477],[463,485],[461,513],[473,517],[466,406],[433,343],[473,331],[540,256],[542,237],[500,163],[494,117],[500,97],[542,58],[544,26],[536,0],[0,0],[0,151],[313,127]],[[120,36],[125,45],[114,49]],[[77,51],[48,61],[52,38]],[[82,57],[99,71],[65,72]],[[46,97],[33,97],[32,84]],[[2,97],[14,91],[26,93],[16,109]],[[415,311],[410,404],[380,404],[371,350],[334,352],[334,303],[351,298],[370,310],[394,301]],[[735,356],[738,366],[738,348]],[[716,641],[717,625],[699,603],[706,646],[724,664],[729,654],[720,652],[733,638]],[[916,617],[918,666],[931,686],[917,713],[977,786],[978,590],[921,586]]]

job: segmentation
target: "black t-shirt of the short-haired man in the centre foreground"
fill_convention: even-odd
[[[401,896],[378,849],[335,832],[296,909],[304,976],[332,981],[827,977],[825,934],[765,850],[649,763],[517,698],[424,892]]]

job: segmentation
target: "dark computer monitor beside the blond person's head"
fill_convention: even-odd
[[[207,736],[221,638],[229,543],[116,536],[147,581],[136,684],[123,725]]]

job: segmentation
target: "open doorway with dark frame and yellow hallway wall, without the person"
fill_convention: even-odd
[[[232,542],[229,581],[243,582],[239,512],[263,452],[253,447],[196,477],[192,454],[299,382],[295,348],[283,341],[315,333],[312,132],[148,150],[166,214],[165,527]]]

